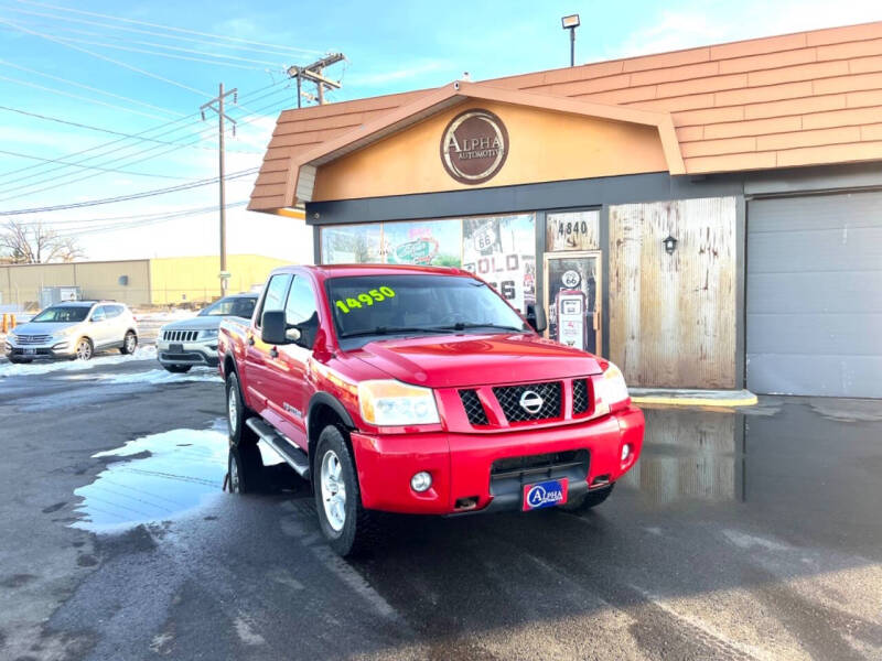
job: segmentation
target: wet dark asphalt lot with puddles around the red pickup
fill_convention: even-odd
[[[391,518],[343,561],[283,466],[220,491],[211,371],[4,366],[0,659],[882,659],[882,402],[646,409],[593,512]]]

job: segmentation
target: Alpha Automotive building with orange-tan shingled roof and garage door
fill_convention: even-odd
[[[882,398],[882,22],[287,110],[249,208],[634,386]]]

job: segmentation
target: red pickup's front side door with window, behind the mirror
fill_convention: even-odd
[[[315,293],[308,278],[294,275],[284,313],[289,326],[300,326],[318,319]],[[303,340],[305,339],[304,336]],[[277,347],[277,355],[267,364],[266,371],[266,392],[269,400],[267,419],[304,451],[309,446],[306,407],[310,389],[306,378],[311,356],[312,349],[301,344]]]

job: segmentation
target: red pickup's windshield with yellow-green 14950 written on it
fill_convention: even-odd
[[[325,282],[337,337],[469,329],[521,333],[521,318],[485,283],[458,275],[361,275]]]

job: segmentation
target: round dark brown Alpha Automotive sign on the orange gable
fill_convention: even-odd
[[[441,162],[461,184],[492,178],[508,155],[508,131],[488,110],[466,110],[454,117],[441,137]]]

